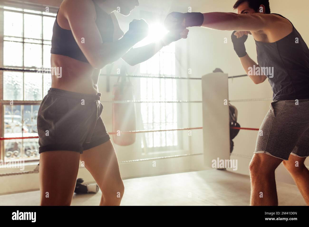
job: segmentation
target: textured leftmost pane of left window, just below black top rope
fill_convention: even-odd
[[[23,100],[23,73],[3,72],[3,99]]]

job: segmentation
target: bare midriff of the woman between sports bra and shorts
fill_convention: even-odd
[[[98,93],[100,69],[94,69],[89,63],[57,54],[52,54],[51,66],[54,69],[52,88],[91,95]]]

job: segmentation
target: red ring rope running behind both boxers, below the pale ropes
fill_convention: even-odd
[[[176,129],[165,129],[165,130],[137,130],[137,131],[127,131],[127,132],[120,132],[121,134],[131,134],[131,133],[146,133],[146,132],[167,132],[167,131],[181,131],[181,130],[195,130],[195,129],[202,129],[203,127],[198,128],[176,128]],[[239,128],[239,127],[231,127],[232,129],[240,129],[240,130],[253,130],[259,131],[259,128]],[[110,132],[109,135],[117,134],[119,132]],[[18,140],[18,139],[38,139],[39,137],[10,137],[4,138],[0,137],[1,140]]]

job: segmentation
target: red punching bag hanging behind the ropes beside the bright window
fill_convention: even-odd
[[[125,76],[113,87],[113,101],[134,100],[133,85]],[[136,130],[135,103],[113,103],[112,105],[112,129],[117,134],[113,135],[113,141],[117,145],[127,146],[135,142],[135,133],[122,134],[124,131]]]

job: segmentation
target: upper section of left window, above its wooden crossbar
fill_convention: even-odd
[[[22,69],[50,68],[55,14],[5,7],[3,13],[3,65]],[[3,73],[3,100],[42,100],[51,76]]]

